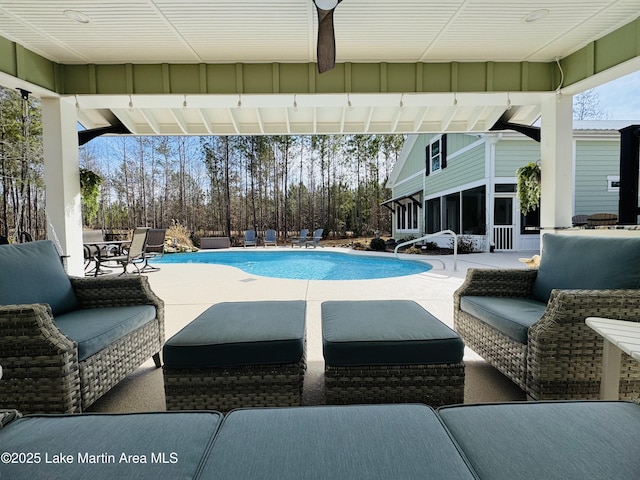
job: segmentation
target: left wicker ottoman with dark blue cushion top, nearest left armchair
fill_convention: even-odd
[[[163,347],[167,410],[300,405],[305,315],[303,301],[210,307]]]

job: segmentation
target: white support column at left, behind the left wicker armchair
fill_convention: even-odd
[[[42,99],[47,236],[67,255],[67,272],[84,275],[77,113],[60,98]]]

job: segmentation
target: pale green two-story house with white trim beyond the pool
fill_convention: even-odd
[[[628,124],[574,123],[574,158],[567,159],[573,215],[618,213],[618,130]],[[516,195],[516,170],[539,160],[540,144],[516,132],[409,136],[387,182],[392,197],[383,203],[393,211],[393,237],[449,229],[471,236],[481,250],[539,250],[539,211],[522,215]]]

